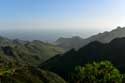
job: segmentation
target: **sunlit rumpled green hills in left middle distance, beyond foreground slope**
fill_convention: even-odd
[[[29,42],[0,37],[0,57],[20,64],[38,65],[63,52],[62,48],[38,40]]]

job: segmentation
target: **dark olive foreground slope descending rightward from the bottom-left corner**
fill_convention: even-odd
[[[66,83],[55,73],[13,62],[0,65],[0,83]]]

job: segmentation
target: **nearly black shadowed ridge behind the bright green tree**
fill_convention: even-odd
[[[117,38],[105,44],[98,41],[91,42],[78,51],[71,49],[61,56],[55,56],[40,67],[66,79],[75,66],[104,60],[111,61],[121,72],[125,70],[125,38]]]

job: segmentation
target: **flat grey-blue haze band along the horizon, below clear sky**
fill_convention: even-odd
[[[98,32],[103,32],[102,29],[94,29],[94,30],[66,30],[66,29],[6,29],[1,30],[0,35],[10,38],[10,39],[21,39],[21,40],[42,40],[47,42],[53,42],[60,37],[72,37],[72,36],[80,36],[83,38],[89,37],[93,34],[97,34]]]

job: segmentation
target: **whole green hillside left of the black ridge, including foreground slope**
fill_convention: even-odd
[[[37,67],[58,53],[63,49],[42,41],[0,37],[0,83],[66,83],[55,73]]]

